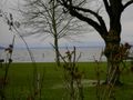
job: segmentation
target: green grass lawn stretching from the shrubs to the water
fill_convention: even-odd
[[[78,66],[84,72],[84,100],[96,100],[96,89],[91,87],[89,82],[89,80],[96,80],[96,64],[93,62],[79,62]],[[100,69],[101,80],[104,80],[105,63],[100,63]],[[11,64],[6,88],[8,100],[28,100],[27,98],[32,92],[33,70],[32,63]],[[37,63],[37,71],[41,78],[44,74],[42,100],[69,100],[66,99],[66,90],[63,88],[64,81],[61,68],[57,68],[55,63]],[[0,77],[3,74],[3,68],[0,68]],[[121,81],[124,84],[114,89],[116,100],[133,100],[133,73],[126,70],[123,71]]]

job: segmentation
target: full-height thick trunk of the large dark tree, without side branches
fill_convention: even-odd
[[[120,1],[110,0],[111,9],[109,11],[110,30],[104,39],[105,51],[108,59],[108,77],[106,82],[113,84],[121,84],[120,82],[120,42],[121,42],[121,14],[122,3]]]

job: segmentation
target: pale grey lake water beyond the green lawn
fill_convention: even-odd
[[[51,48],[44,49],[30,49],[33,53],[33,58],[37,62],[54,62],[55,56],[54,50]],[[69,49],[73,50],[72,48]],[[89,48],[76,48],[76,57],[81,53],[79,61],[94,61],[100,60],[101,52],[103,51],[102,47],[89,47]],[[62,56],[66,52],[66,48],[61,48],[60,52]],[[4,50],[0,50],[0,59],[6,58]],[[31,62],[29,52],[27,49],[14,49],[12,54],[13,62]],[[105,57],[101,58],[102,61],[105,61]]]

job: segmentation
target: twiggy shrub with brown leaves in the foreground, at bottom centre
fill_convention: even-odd
[[[66,51],[66,56],[62,57],[62,60],[64,62],[63,64],[63,77],[65,82],[65,89],[69,92],[68,100],[84,100],[84,93],[83,93],[83,84],[82,84],[82,78],[83,72],[79,70],[79,67],[76,66],[76,51],[75,47],[73,51]]]

